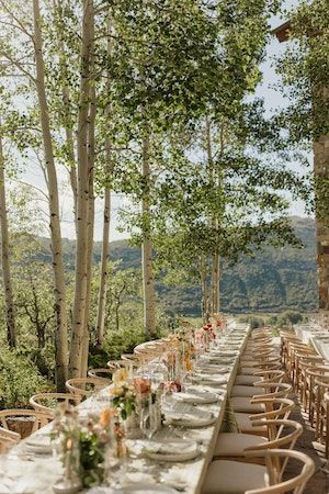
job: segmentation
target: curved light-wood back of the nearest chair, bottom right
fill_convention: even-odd
[[[314,461],[307,454],[299,451],[268,449],[262,452],[249,451],[246,456],[249,458],[262,456],[265,459],[270,485],[268,487],[246,491],[245,494],[284,494],[287,492],[302,494],[315,472]],[[281,469],[277,471],[277,460],[281,460],[286,467],[290,459],[297,460],[302,463],[300,473],[287,481],[282,481],[285,468],[283,471]]]

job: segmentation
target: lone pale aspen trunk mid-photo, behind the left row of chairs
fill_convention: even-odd
[[[141,271],[144,295],[144,328],[145,334],[151,337],[156,334],[156,294],[152,267],[152,243],[150,226],[150,165],[149,165],[149,135],[143,138],[143,178],[145,191],[141,199],[143,214],[143,245]]]

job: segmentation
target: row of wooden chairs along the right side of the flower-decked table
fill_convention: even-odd
[[[240,358],[229,406],[236,431],[219,433],[203,494],[300,494],[315,471],[313,460],[294,451],[303,427],[291,420],[292,385],[284,383],[280,348],[270,328],[254,330]],[[251,415],[250,415],[251,414]],[[285,480],[288,460],[300,473]]]

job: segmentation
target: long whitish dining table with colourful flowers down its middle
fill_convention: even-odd
[[[155,440],[162,439],[189,439],[198,445],[200,454],[190,461],[158,462],[150,460],[138,453],[138,448],[143,445],[141,439],[128,439],[127,446],[131,454],[123,460],[121,467],[122,485],[117,485],[113,491],[111,489],[104,492],[125,493],[125,485],[129,485],[129,493],[134,492],[132,486],[140,482],[157,485],[157,491],[162,485],[171,486],[173,492],[184,492],[186,494],[198,494],[202,492],[208,463],[212,461],[216,438],[220,429],[227,397],[230,394],[231,386],[239,366],[239,356],[242,353],[247,344],[250,328],[247,324],[238,324],[231,321],[225,337],[219,340],[218,350],[227,351],[230,343],[234,341],[237,348],[236,355],[228,359],[224,359],[225,363],[220,363],[222,373],[225,377],[225,383],[205,385],[202,382],[193,383],[193,388],[203,391],[207,389],[218,394],[218,401],[213,404],[191,405],[183,402],[175,403],[175,412],[182,416],[191,411],[194,406],[200,414],[211,413],[214,417],[213,423],[205,427],[174,427],[164,426],[157,433]],[[223,367],[227,372],[223,373]],[[79,414],[88,414],[101,409],[106,406],[106,397],[110,395],[109,389],[103,389],[97,396],[91,395],[79,405]],[[107,404],[109,406],[109,404]],[[52,430],[52,423],[34,434],[33,439],[37,441],[38,437],[45,437]],[[30,436],[31,438],[31,436]],[[140,449],[140,448],[139,448]],[[58,458],[49,454],[32,453],[26,448],[26,440],[22,440],[13,447],[9,453],[0,456],[0,494],[50,494],[53,493],[54,483],[63,474],[63,467]],[[89,492],[89,491],[82,491]]]

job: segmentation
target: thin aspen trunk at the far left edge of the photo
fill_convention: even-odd
[[[4,158],[3,158],[1,135],[0,135],[0,226],[1,226],[1,260],[2,260],[4,302],[5,302],[7,339],[8,345],[11,348],[14,348],[16,346],[15,306],[13,301],[13,292],[10,274],[9,233],[8,233],[5,184],[4,184]]]

